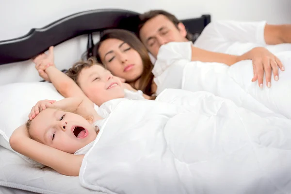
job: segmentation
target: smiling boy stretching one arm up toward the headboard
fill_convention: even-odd
[[[67,75],[54,65],[53,47],[48,54],[38,55],[33,62],[39,75],[51,81],[64,97],[89,98],[97,106],[115,98],[149,99],[141,91],[134,90],[120,78],[99,65],[95,59],[80,61],[68,70]]]

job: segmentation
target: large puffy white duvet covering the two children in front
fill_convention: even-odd
[[[291,120],[208,92],[115,99],[80,170],[108,194],[287,194]]]

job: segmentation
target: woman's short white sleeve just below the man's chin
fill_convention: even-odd
[[[160,76],[170,65],[180,60],[190,62],[192,46],[192,42],[170,42],[162,45],[152,69],[154,76]]]

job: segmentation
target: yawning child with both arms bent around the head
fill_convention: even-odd
[[[94,104],[77,97],[43,100],[29,118],[14,131],[10,146],[61,174],[78,176],[84,155],[74,153],[96,139],[103,119]]]

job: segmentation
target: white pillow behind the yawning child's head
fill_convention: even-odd
[[[22,82],[0,86],[0,146],[14,151],[9,145],[9,138],[17,127],[28,120],[28,114],[37,101],[63,98],[52,83],[48,82]],[[43,167],[28,157],[17,154],[27,162]]]

